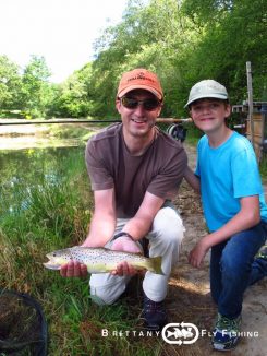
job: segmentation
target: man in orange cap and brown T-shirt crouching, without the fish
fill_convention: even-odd
[[[146,272],[143,281],[143,317],[149,330],[167,323],[163,299],[184,232],[171,199],[187,159],[181,144],[155,126],[162,105],[155,73],[145,69],[124,73],[116,99],[122,122],[96,134],[86,147],[95,210],[83,246],[138,253],[142,239],[147,238],[149,257],[162,256],[165,275]],[[112,304],[135,272],[123,262],[112,273],[93,274],[90,293],[99,304]],[[61,274],[81,276],[87,271],[73,262]]]

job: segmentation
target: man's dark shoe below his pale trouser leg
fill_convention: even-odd
[[[153,301],[144,294],[143,318],[145,329],[160,331],[167,323],[167,311],[163,301]]]

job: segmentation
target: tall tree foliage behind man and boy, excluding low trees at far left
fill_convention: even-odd
[[[96,41],[92,80],[99,114],[112,114],[123,71],[145,67],[161,79],[163,116],[186,115],[191,86],[213,78],[227,85],[232,103],[246,98],[245,62],[252,61],[255,99],[266,83],[267,3],[264,0],[131,0],[122,23]]]

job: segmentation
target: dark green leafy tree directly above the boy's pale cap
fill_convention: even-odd
[[[267,64],[267,3],[263,0],[211,1],[185,0],[185,15],[202,31],[194,52],[187,88],[196,81],[214,78],[230,92],[232,103],[246,98],[245,62],[254,68],[254,94],[260,100]],[[264,78],[265,76],[265,78]]]

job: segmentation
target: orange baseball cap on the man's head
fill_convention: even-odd
[[[157,75],[146,69],[138,68],[122,74],[117,97],[122,97],[128,92],[143,88],[157,96],[158,99],[163,98],[163,92]]]

